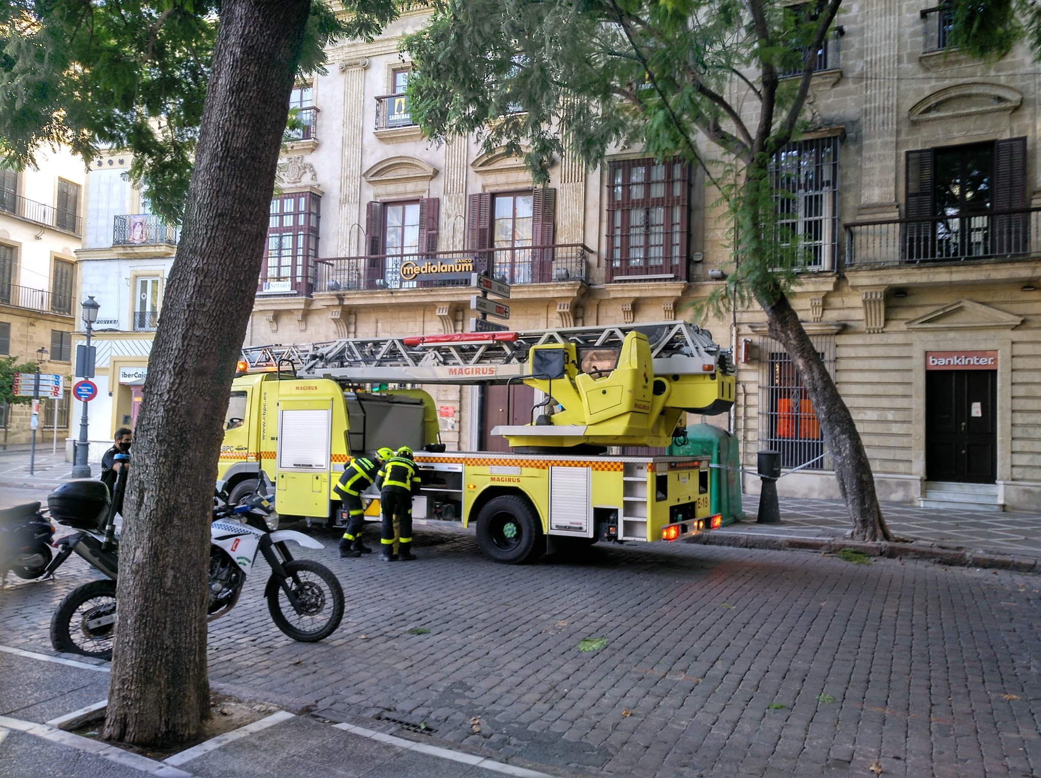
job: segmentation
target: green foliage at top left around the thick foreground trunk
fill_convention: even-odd
[[[87,163],[101,147],[126,151],[130,179],[153,212],[180,223],[220,7],[219,0],[0,4],[0,157],[21,168],[46,145],[67,144]],[[320,71],[326,45],[347,31],[332,8],[312,0],[301,73]]]

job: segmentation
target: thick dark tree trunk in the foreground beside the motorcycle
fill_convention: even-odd
[[[213,483],[253,308],[309,0],[224,0],[188,188],[134,440],[104,737],[181,743],[209,715]]]

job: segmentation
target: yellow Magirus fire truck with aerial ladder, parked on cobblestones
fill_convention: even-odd
[[[684,412],[733,405],[730,354],[689,323],[341,339],[243,357],[219,474],[232,499],[263,468],[280,513],[327,522],[352,457],[408,445],[423,477],[414,517],[476,524],[498,562],[599,540],[677,540],[720,524],[709,515],[706,460],[607,453],[665,446]],[[385,388],[517,382],[541,399],[531,423],[492,430],[509,453],[446,451],[430,394]],[[367,513],[378,513],[375,500]]]

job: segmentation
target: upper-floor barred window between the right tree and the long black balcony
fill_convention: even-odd
[[[804,266],[835,267],[839,240],[839,139],[797,140],[777,153],[771,165],[782,229],[797,237]],[[782,240],[785,236],[782,236]]]

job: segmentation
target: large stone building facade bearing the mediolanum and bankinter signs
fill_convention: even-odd
[[[793,305],[883,499],[1033,508],[1041,71],[1024,48],[992,64],[950,50],[949,17],[922,3],[843,9],[814,54],[809,129],[777,160],[811,250]],[[565,153],[535,188],[520,160],[474,138],[425,139],[399,53],[425,19],[411,10],[372,43],[334,47],[328,74],[295,90],[248,344],[468,330],[469,289],[403,277],[421,258],[511,283],[512,329],[672,319],[719,283],[728,223],[694,167],[629,148],[587,171]],[[761,312],[705,323],[738,365],[735,409],[711,421],[750,466],[763,448],[804,466],[782,493],[838,496],[812,404]],[[487,430],[504,390],[433,392],[450,447],[500,445]]]

